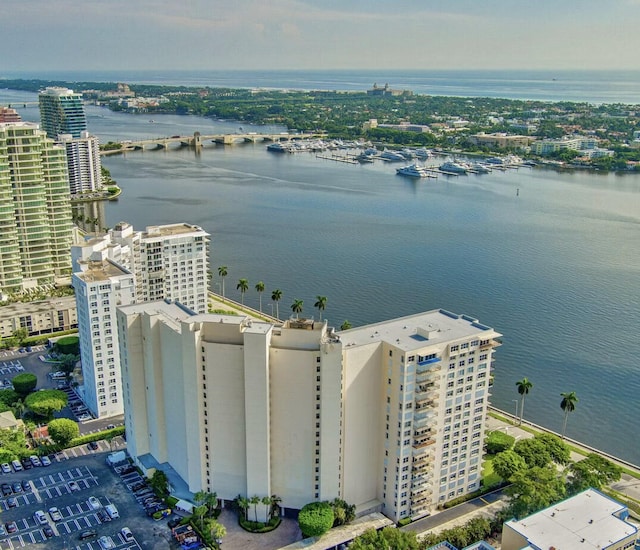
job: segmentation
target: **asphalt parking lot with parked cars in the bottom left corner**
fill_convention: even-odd
[[[45,544],[54,550],[171,547],[166,519],[147,517],[127,488],[127,482],[140,481],[137,473],[121,478],[105,464],[108,449],[100,443],[96,451],[83,446],[53,455],[51,466],[0,474],[0,550]]]

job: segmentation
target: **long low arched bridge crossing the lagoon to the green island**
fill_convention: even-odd
[[[101,151],[103,155],[113,155],[126,153],[129,151],[144,151],[157,149],[179,149],[182,147],[192,147],[198,149],[203,145],[219,143],[223,145],[233,145],[234,143],[256,143],[259,141],[292,141],[310,138],[325,137],[318,133],[289,134],[286,132],[279,134],[261,134],[257,132],[236,133],[236,134],[201,134],[194,132],[192,136],[171,136],[142,139],[138,141],[122,141],[119,149]]]

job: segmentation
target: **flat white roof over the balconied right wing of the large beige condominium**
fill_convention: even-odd
[[[372,342],[389,342],[405,351],[427,345],[448,344],[472,336],[495,338],[501,334],[468,315],[458,315],[444,309],[400,317],[339,333],[345,347]]]

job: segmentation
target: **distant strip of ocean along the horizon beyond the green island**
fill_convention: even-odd
[[[1,78],[360,91],[388,83],[430,95],[640,103],[640,71],[5,71]]]

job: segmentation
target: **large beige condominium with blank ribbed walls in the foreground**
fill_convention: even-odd
[[[399,520],[479,487],[500,334],[473,318],[337,333],[170,301],[117,315],[129,452],[182,494],[340,497]]]

